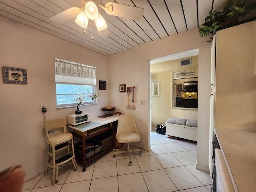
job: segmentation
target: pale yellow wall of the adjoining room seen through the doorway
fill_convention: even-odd
[[[188,57],[192,59],[189,66],[180,66],[180,59],[156,64],[150,64],[151,86],[153,82],[160,82],[160,97],[151,95],[151,122],[155,128],[157,124],[165,124],[169,117],[197,120],[197,109],[173,108],[173,80],[172,72],[198,68],[198,56]],[[187,59],[187,58],[182,58]]]

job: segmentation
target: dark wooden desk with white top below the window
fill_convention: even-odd
[[[69,128],[73,129],[73,132],[72,132],[73,139],[77,140],[79,142],[82,142],[83,156],[81,157],[79,155],[76,155],[76,160],[83,163],[83,166],[84,166],[83,172],[86,170],[86,163],[89,163],[89,162],[95,160],[96,158],[98,158],[99,156],[101,156],[102,154],[114,149],[115,139],[114,139],[114,125],[113,125],[113,122],[115,122],[117,120],[118,120],[118,117],[114,117],[114,116],[110,116],[110,117],[106,117],[106,118],[95,117],[95,118],[91,118],[90,122],[87,122],[87,123],[84,123],[84,124],[80,124],[80,125],[77,125],[77,126],[68,125]],[[113,132],[112,146],[110,146],[107,149],[101,151],[99,154],[96,154],[92,158],[86,160],[85,141],[90,139],[90,138],[93,138],[93,137],[95,137],[99,134],[107,132],[109,130],[112,130],[112,132]]]

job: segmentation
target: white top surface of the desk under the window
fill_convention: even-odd
[[[114,116],[110,116],[106,118],[94,117],[94,118],[90,118],[90,122],[83,123],[77,126],[68,125],[68,127],[78,130],[80,132],[85,132],[85,131],[94,129],[96,127],[114,122],[116,120],[118,120],[118,117],[114,117]]]

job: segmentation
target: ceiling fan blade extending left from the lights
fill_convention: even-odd
[[[56,23],[63,23],[65,21],[68,21],[68,20],[76,17],[79,12],[80,12],[80,8],[72,7],[72,8],[69,8],[65,11],[62,11],[62,12],[50,17],[49,19]]]

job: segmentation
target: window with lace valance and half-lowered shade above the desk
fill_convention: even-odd
[[[90,95],[96,95],[96,69],[75,62],[55,58],[55,83],[57,108],[75,107],[74,98],[83,94],[84,105],[96,103]]]

